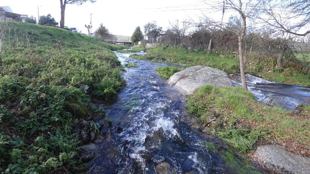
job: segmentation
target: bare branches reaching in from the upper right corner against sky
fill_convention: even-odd
[[[258,9],[265,15],[257,18],[280,32],[296,36],[310,33],[310,0],[263,0]]]

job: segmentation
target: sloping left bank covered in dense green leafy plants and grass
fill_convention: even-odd
[[[0,22],[0,172],[81,172],[80,120],[104,117],[92,98],[109,100],[125,84],[111,50],[124,47],[68,30]],[[80,85],[88,85],[85,91]],[[92,97],[91,97],[92,96]]]

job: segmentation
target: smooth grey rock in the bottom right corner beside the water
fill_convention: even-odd
[[[266,170],[279,174],[309,174],[310,158],[281,149],[276,145],[259,146],[254,159]]]

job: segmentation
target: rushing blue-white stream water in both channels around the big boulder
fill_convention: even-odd
[[[186,115],[185,96],[166,85],[166,80],[155,72],[156,67],[167,64],[131,59],[127,53],[115,54],[123,65],[131,62],[138,67],[126,68],[123,77],[127,85],[117,101],[101,105],[113,129],[103,130],[104,141],[94,145],[96,158],[88,164],[91,173],[257,172],[242,155],[218,137],[203,133],[197,121]],[[276,98],[296,100],[302,100],[298,95],[309,96],[307,88],[296,87],[290,89],[294,94],[283,94],[283,89],[290,91],[286,85],[258,81],[253,76],[248,79],[249,89],[262,102],[270,102],[274,94],[278,94]],[[290,106],[300,102],[296,100],[289,102]]]

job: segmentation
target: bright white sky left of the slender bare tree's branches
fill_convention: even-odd
[[[60,21],[59,0],[1,0],[0,6],[10,6],[14,13],[33,15],[51,14]],[[90,23],[92,13],[92,32],[103,23],[112,34],[131,36],[136,26],[143,29],[144,24],[156,20],[166,29],[169,20],[197,19],[206,5],[201,0],[97,0],[82,6],[68,4],[65,11],[65,26],[76,27],[87,33],[85,24]],[[195,10],[184,10],[195,9]]]

